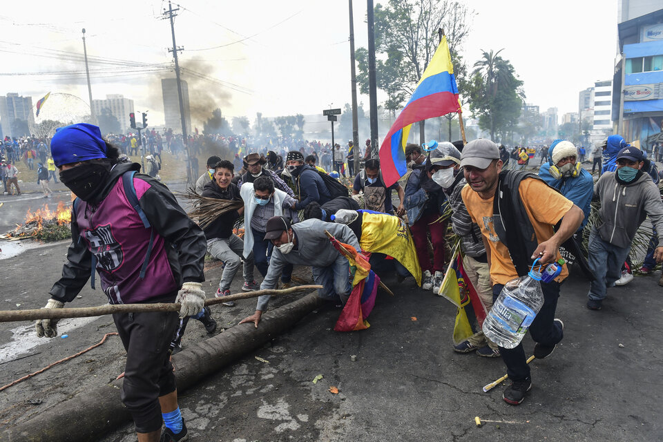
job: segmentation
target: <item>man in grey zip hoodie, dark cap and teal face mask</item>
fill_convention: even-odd
[[[616,171],[601,175],[594,188],[594,198],[601,202],[602,222],[589,236],[588,261],[596,276],[588,294],[590,310],[602,309],[608,287],[622,277],[622,263],[631,250],[635,231],[647,216],[658,234],[653,258],[663,260],[663,202],[658,187],[642,171],[644,155],[640,149],[626,146],[615,155],[615,161]]]

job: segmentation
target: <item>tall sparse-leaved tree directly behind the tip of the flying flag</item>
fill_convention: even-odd
[[[389,0],[387,6],[375,6],[376,84],[387,93],[384,106],[394,117],[435,53],[439,28],[446,32],[454,65],[459,65],[454,56],[469,33],[473,13],[450,0]],[[368,93],[368,51],[358,48],[355,55],[360,90]]]

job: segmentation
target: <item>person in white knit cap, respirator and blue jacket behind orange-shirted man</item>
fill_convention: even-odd
[[[568,162],[558,169],[557,164],[560,160],[570,156],[575,157],[575,162]],[[580,224],[579,230],[582,230],[589,219],[590,204],[594,194],[592,175],[582,168],[577,148],[571,142],[555,140],[548,148],[548,158],[550,160],[539,169],[539,177],[582,209],[585,215]]]

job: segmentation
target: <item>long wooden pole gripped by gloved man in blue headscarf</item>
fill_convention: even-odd
[[[262,295],[287,295],[296,291],[321,289],[321,285],[298,285],[289,289],[257,290],[248,293],[224,296],[223,298],[211,298],[205,300],[205,305],[215,305],[221,302],[257,298]],[[63,318],[86,318],[89,316],[103,316],[115,313],[142,313],[146,311],[180,311],[178,302],[160,302],[156,304],[119,304],[99,305],[97,307],[79,307],[71,309],[32,309],[32,310],[5,310],[0,311],[0,323],[10,323],[17,320],[36,319],[63,319]]]

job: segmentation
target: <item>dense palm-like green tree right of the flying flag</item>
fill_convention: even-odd
[[[474,63],[470,80],[470,111],[479,117],[479,127],[504,137],[517,125],[525,95],[523,82],[518,79],[510,61],[497,52],[483,51],[483,57]]]

